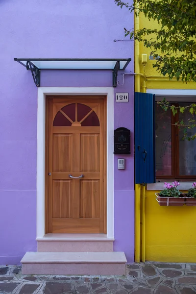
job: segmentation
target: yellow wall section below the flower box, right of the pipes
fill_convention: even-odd
[[[159,206],[146,191],[146,260],[196,262],[196,207]]]

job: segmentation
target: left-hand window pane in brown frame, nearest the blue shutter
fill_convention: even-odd
[[[171,111],[155,102],[156,176],[172,175]]]

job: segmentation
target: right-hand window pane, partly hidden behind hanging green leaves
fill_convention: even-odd
[[[179,106],[187,106],[191,103],[179,103]],[[189,111],[179,113],[179,121],[184,120],[185,124],[190,118],[196,119]],[[196,128],[188,129],[188,136],[194,135]],[[180,175],[196,175],[196,139],[188,141],[184,139],[184,129],[179,131],[179,172]]]

